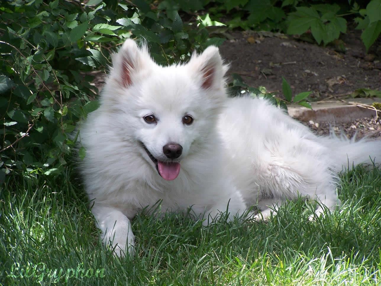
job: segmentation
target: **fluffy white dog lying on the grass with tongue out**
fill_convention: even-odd
[[[205,224],[251,205],[266,218],[298,196],[318,201],[320,214],[339,204],[343,165],[381,157],[380,141],[317,137],[265,100],[228,98],[216,47],[162,67],[126,40],[112,62],[80,141],[92,212],[117,254],[133,250],[130,220],[159,200],[162,210],[192,207]]]

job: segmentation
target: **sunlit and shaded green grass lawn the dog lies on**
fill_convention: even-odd
[[[176,214],[138,215],[136,253],[123,259],[99,243],[80,180],[69,177],[71,182],[41,177],[34,183],[8,178],[2,185],[0,283],[381,284],[377,169],[343,174],[341,211],[313,222],[311,207],[302,201],[288,203],[268,223],[202,227]],[[56,277],[49,277],[54,270]]]

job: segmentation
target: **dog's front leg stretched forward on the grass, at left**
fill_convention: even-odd
[[[133,254],[135,236],[130,220],[114,207],[95,204],[91,212],[97,221],[98,228],[102,231],[103,244],[105,246],[111,244],[114,255],[122,257],[127,251]]]

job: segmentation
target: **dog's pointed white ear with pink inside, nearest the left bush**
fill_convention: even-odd
[[[134,80],[134,75],[153,64],[146,45],[142,48],[134,40],[127,39],[118,53],[112,56],[112,74],[123,87],[129,87]]]

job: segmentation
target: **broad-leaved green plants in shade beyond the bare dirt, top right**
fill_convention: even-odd
[[[232,0],[221,1],[212,9],[223,16],[231,15],[227,25],[231,28],[285,32],[290,35],[312,34],[320,44],[330,43],[347,30],[348,16],[355,18],[356,29],[362,29],[361,39],[368,50],[381,33],[381,0],[371,0],[364,9],[352,1],[331,4],[330,1],[299,0]],[[361,4],[361,3],[360,3]],[[346,18],[344,18],[346,17]]]

